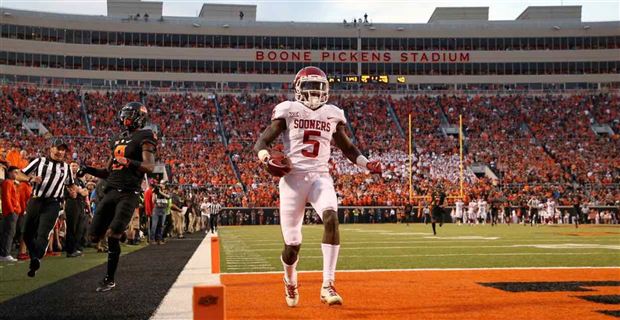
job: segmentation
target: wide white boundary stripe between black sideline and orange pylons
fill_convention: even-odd
[[[220,283],[220,275],[211,273],[211,238],[212,235],[205,237],[196,248],[155,314],[151,317],[152,320],[193,319],[192,295],[194,286]]]

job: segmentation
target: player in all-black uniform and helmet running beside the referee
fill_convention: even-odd
[[[124,131],[111,141],[112,157],[107,166],[103,169],[86,166],[80,170],[82,175],[88,173],[107,181],[105,195],[97,205],[88,231],[94,243],[102,237],[108,238],[107,274],[97,292],[116,286],[114,274],[121,254],[120,238],[138,207],[144,174],[152,173],[155,167],[157,137],[151,130],[142,129],[146,118],[147,110],[142,103],[126,104],[120,114]]]

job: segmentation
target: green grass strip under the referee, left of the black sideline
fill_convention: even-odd
[[[144,248],[144,245],[122,245],[122,254],[127,254]],[[78,258],[66,258],[62,256],[45,257],[41,260],[41,270],[34,278],[28,278],[29,261],[0,264],[0,303],[30,292],[58,280],[86,271],[108,260],[106,253],[97,253],[95,249],[86,248],[84,256]],[[103,278],[104,274],[101,275]],[[95,284],[88,284],[95,285]]]

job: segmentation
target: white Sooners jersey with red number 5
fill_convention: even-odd
[[[347,121],[342,109],[324,104],[312,110],[297,101],[284,101],[273,109],[274,119],[286,121],[283,152],[293,164],[291,173],[329,172],[332,135],[338,123]]]

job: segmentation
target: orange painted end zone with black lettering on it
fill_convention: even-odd
[[[320,272],[299,274],[299,305],[284,302],[281,274],[222,275],[227,319],[614,319],[620,312],[581,296],[619,295],[620,268],[465,271],[340,272],[336,288],[343,306],[319,301]],[[480,283],[614,281],[591,291],[511,292]],[[520,284],[523,283],[523,284]]]

